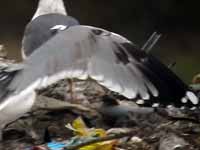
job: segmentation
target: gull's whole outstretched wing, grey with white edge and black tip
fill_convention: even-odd
[[[161,103],[159,95],[167,96],[164,105],[179,105],[185,95],[189,95],[185,104],[198,103],[193,93],[186,94],[187,86],[153,56],[118,34],[91,26],[72,26],[39,47],[10,88],[40,89],[63,78],[92,78],[129,99],[143,99],[140,104]]]

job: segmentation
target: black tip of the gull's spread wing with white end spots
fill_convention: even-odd
[[[138,104],[145,107],[174,106],[191,109],[199,107],[199,99],[195,93],[167,66],[151,54],[147,54],[130,43],[123,43],[122,45],[137,60],[138,63],[134,65],[138,67],[159,92],[158,96],[153,96],[149,91],[150,99],[139,100]],[[125,57],[125,55],[119,54],[121,57]],[[120,60],[123,62],[122,59]],[[137,98],[141,99],[141,97]]]

